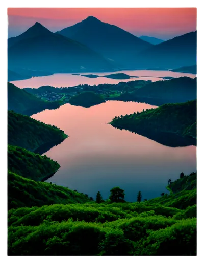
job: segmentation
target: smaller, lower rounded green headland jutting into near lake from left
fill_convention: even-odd
[[[43,181],[57,172],[60,165],[47,157],[40,156],[22,147],[7,144],[7,168],[28,179]]]

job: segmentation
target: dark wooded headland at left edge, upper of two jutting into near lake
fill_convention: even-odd
[[[8,144],[35,152],[38,152],[38,148],[42,145],[49,144],[50,148],[68,137],[54,125],[39,122],[13,111],[7,112],[7,129]],[[46,147],[45,151],[47,150]]]

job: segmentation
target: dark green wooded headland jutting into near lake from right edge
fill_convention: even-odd
[[[197,101],[164,104],[156,109],[113,118],[111,124],[133,132],[151,130],[196,138]]]

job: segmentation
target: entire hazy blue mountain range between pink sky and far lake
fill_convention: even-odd
[[[56,33],[36,22],[21,35],[9,38],[8,69],[13,76],[12,71],[21,75],[23,70],[25,77],[43,72],[173,69],[196,64],[196,51],[196,31],[153,45],[89,16]]]

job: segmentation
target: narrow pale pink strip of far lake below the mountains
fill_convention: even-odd
[[[109,73],[79,73],[79,74],[94,74],[94,75],[110,75],[110,74],[116,74],[116,73],[125,73],[130,76],[141,76],[141,78],[130,78],[125,80],[119,80],[119,79],[111,79],[106,77],[97,77],[97,78],[88,78],[80,75],[72,75],[72,74],[54,74],[52,76],[41,76],[41,77],[33,77],[31,79],[27,80],[21,80],[21,81],[12,81],[15,86],[19,88],[38,88],[40,86],[54,86],[54,87],[72,87],[72,86],[78,86],[79,84],[89,84],[93,86],[94,84],[97,86],[98,84],[102,83],[109,83],[109,84],[117,84],[119,82],[128,82],[128,81],[134,81],[134,80],[152,80],[159,81],[164,80],[163,78],[159,77],[181,77],[181,76],[188,76],[191,78],[196,77],[194,74],[188,74],[188,73],[180,73],[180,72],[171,72],[171,71],[160,71],[160,70],[122,70],[117,72],[109,72]],[[77,74],[77,73],[74,73]],[[142,77],[146,76],[146,77]]]

